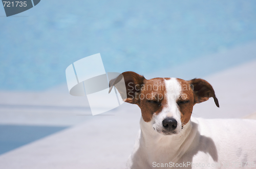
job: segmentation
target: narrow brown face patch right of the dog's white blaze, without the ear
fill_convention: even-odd
[[[181,97],[177,100],[177,104],[181,112],[181,123],[183,126],[190,120],[194,106],[194,93],[188,81],[179,78],[177,80],[181,85]]]

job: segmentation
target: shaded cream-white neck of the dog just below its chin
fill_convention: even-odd
[[[176,162],[187,151],[195,138],[196,132],[193,130],[191,121],[184,125],[178,134],[163,135],[156,132],[150,122],[140,119],[141,135],[140,145],[146,152],[148,162],[163,161],[162,157],[166,157],[166,161]],[[168,150],[168,151],[166,151]],[[156,154],[165,153],[161,159]]]

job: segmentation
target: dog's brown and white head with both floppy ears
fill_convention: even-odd
[[[118,79],[124,77],[125,102],[137,104],[145,122],[151,123],[154,130],[162,134],[177,134],[190,120],[193,106],[214,98],[219,107],[214,89],[205,80],[195,78],[145,79],[135,72],[123,72],[110,81],[110,90]],[[122,90],[117,90],[123,96]]]

